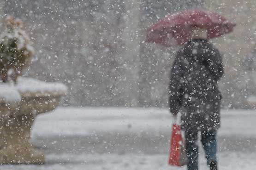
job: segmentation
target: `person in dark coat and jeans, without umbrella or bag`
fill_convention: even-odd
[[[207,30],[194,28],[174,59],[169,86],[170,111],[181,112],[185,131],[188,170],[198,170],[198,133],[210,170],[217,170],[217,130],[220,128],[221,93],[218,81],[224,74],[220,52],[207,40]]]

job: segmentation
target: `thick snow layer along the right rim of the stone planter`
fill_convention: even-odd
[[[28,93],[34,93],[36,96],[64,95],[67,92],[67,86],[62,83],[45,82],[25,77],[18,78],[16,88],[23,96],[31,96]]]

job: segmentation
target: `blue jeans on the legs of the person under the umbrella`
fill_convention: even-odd
[[[202,131],[201,132],[201,142],[203,149],[205,151],[205,156],[207,159],[207,164],[209,165],[212,161],[217,162],[217,140],[216,140],[216,130]],[[197,132],[185,132],[185,143],[186,143],[186,153],[188,157],[188,170],[198,170],[198,146],[197,142]]]

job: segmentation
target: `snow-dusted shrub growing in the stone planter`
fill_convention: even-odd
[[[16,79],[22,74],[34,53],[23,22],[8,16],[5,29],[0,34],[0,78],[3,82]]]

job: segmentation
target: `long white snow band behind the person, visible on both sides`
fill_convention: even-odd
[[[222,110],[219,134],[256,136],[255,110]],[[58,108],[39,115],[34,136],[89,135],[95,132],[168,132],[173,122],[167,109],[159,108]]]

